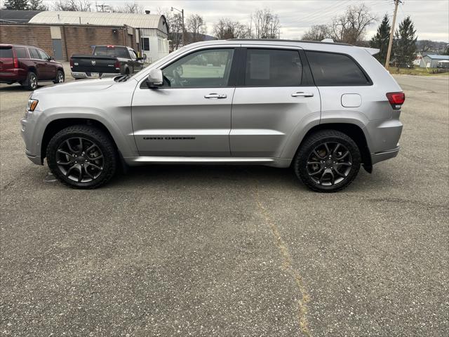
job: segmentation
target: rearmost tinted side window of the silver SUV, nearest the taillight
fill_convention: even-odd
[[[368,86],[370,80],[348,55],[306,51],[316,86]]]

